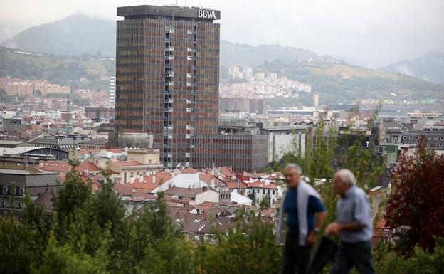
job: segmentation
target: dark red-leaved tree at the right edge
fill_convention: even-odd
[[[432,251],[435,236],[444,236],[444,156],[425,146],[416,156],[401,156],[386,209],[388,225],[399,231],[398,249],[411,253],[418,244]]]

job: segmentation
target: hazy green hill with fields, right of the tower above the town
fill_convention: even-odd
[[[276,72],[312,85],[312,91],[321,95],[320,102],[343,102],[359,98],[444,99],[443,84],[347,64],[286,64],[277,60],[265,62],[255,69]]]

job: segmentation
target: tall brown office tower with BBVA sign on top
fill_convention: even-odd
[[[213,20],[221,13],[125,6],[117,16],[124,17],[117,21],[117,144],[152,138],[166,167],[189,166],[195,136],[218,131],[220,38]]]

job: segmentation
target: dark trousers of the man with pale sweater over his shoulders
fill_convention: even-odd
[[[311,246],[299,246],[297,236],[287,236],[284,248],[284,274],[305,274],[310,262]]]

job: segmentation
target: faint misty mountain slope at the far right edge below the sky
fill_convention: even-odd
[[[379,70],[444,83],[444,53],[433,52],[414,60],[401,60]]]

